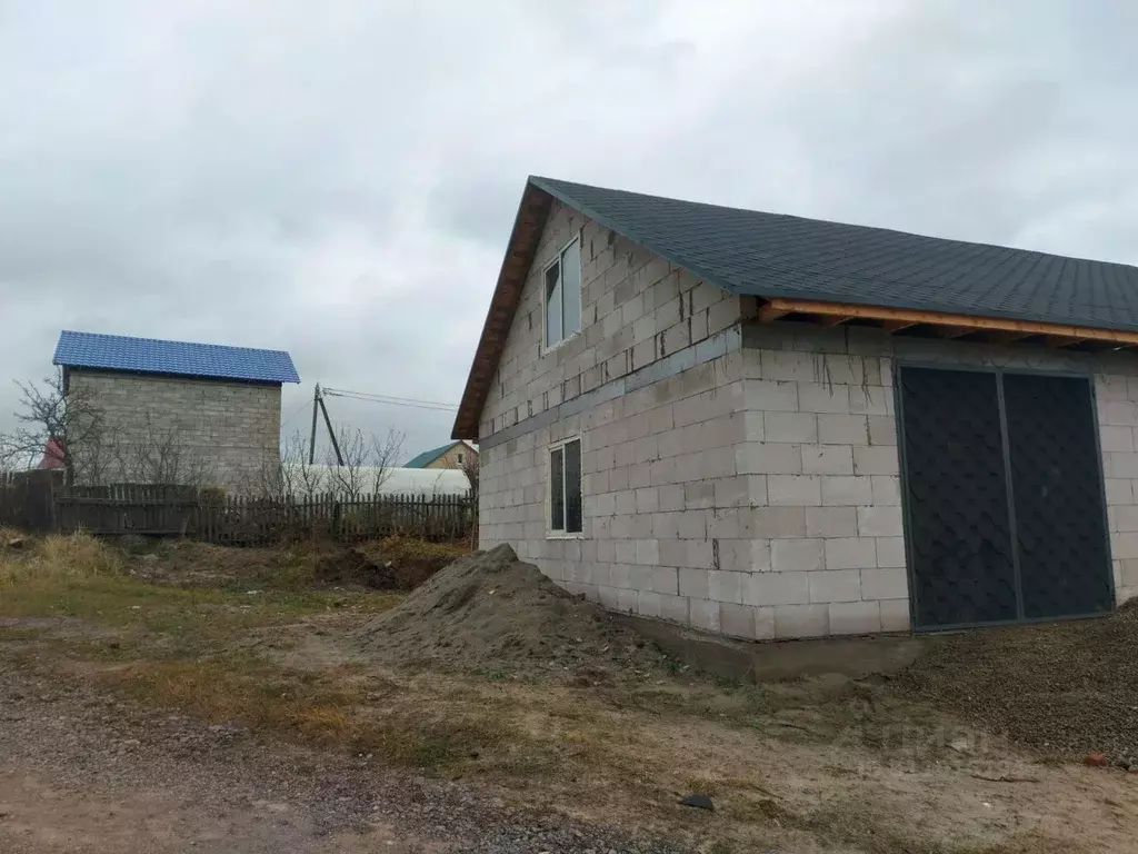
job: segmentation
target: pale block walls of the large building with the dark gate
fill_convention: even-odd
[[[572,233],[583,236],[585,328],[543,353],[539,274]],[[1133,355],[764,326],[747,321],[751,311],[555,208],[481,419],[483,545],[509,542],[609,607],[734,637],[905,631],[897,360],[1078,371],[1095,377],[1118,599],[1138,593]],[[731,352],[552,422],[537,418],[740,323],[742,346]],[[495,441],[502,430],[510,438]],[[550,537],[549,445],[574,436],[584,531]]]

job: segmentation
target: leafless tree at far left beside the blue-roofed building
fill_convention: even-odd
[[[94,396],[84,388],[68,388],[63,371],[38,384],[16,385],[18,426],[0,436],[0,458],[9,467],[31,468],[50,452],[59,459],[68,486],[76,481],[99,483],[107,463],[106,421]]]

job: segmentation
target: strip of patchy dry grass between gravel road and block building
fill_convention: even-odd
[[[300,563],[300,551],[291,555],[288,561]],[[270,557],[228,559],[269,567]],[[974,810],[989,785],[968,778],[971,759],[945,756],[943,745],[927,737],[942,718],[883,687],[760,688],[663,674],[550,684],[354,658],[347,632],[396,601],[289,585],[250,596],[240,588],[146,583],[123,572],[114,548],[82,536],[0,552],[0,616],[65,615],[88,626],[81,635],[51,637],[6,629],[0,641],[16,647],[14,633],[22,632],[18,644],[36,650],[28,666],[82,674],[211,723],[472,779],[518,806],[657,832],[718,854],[1079,849],[1048,848],[1046,837],[1020,837],[1017,829],[1000,836],[986,824],[990,814],[967,813],[962,804]],[[76,660],[80,668],[69,664]],[[901,724],[918,733],[913,749],[888,734]],[[855,744],[844,738],[850,731],[858,733]],[[904,773],[892,767],[899,762]],[[949,777],[966,791],[963,800],[937,788]],[[717,812],[677,804],[691,794],[712,796]],[[1041,804],[1033,810],[1047,812]],[[914,821],[918,812],[932,823]]]

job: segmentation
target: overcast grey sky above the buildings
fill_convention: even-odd
[[[998,6],[998,8],[996,8]],[[457,402],[529,173],[1138,262],[1138,5],[0,0],[0,430],[59,329]],[[332,402],[414,453],[439,412]]]

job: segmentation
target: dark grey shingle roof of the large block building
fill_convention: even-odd
[[[531,178],[735,294],[1138,331],[1138,268]]]

